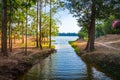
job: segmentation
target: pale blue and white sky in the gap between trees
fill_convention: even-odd
[[[80,27],[77,25],[77,20],[72,16],[72,14],[69,13],[69,11],[62,10],[59,11],[57,14],[57,17],[61,21],[61,25],[59,25],[59,32],[75,32],[78,33],[80,30]]]

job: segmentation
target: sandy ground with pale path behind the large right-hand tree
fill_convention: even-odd
[[[75,41],[77,47],[83,50],[86,46],[86,42],[83,40]],[[120,53],[120,35],[105,35],[95,40],[95,51],[101,53]]]

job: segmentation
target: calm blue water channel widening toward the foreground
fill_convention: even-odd
[[[57,53],[34,65],[19,80],[111,80],[104,73],[85,64],[68,41],[77,37],[54,37]]]

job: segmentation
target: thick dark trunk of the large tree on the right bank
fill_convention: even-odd
[[[93,51],[94,48],[94,41],[95,41],[95,2],[93,1],[92,9],[91,9],[91,17],[90,17],[90,25],[88,29],[88,42],[85,48],[86,51]]]

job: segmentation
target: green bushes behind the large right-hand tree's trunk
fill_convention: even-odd
[[[114,16],[110,16],[107,20],[97,20],[95,37],[98,38],[106,34],[120,34],[120,29],[112,28],[113,20],[115,20]],[[87,40],[87,29],[82,27],[78,33],[78,36],[80,39]]]

